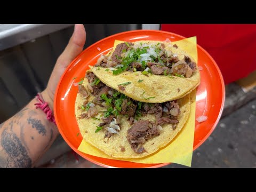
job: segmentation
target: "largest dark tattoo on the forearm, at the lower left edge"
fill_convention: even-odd
[[[31,158],[15,133],[5,129],[1,135],[1,145],[8,154],[6,167],[31,167]]]

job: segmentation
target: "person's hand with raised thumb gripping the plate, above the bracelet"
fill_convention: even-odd
[[[44,100],[48,102],[48,105],[52,110],[53,110],[54,94],[55,94],[57,85],[59,83],[60,77],[66,70],[69,63],[73,61],[77,57],[77,55],[83,51],[85,39],[86,39],[86,32],[83,24],[76,24],[74,33],[71,36],[65,50],[59,56],[55,64],[55,67],[52,71],[47,87],[42,92]]]

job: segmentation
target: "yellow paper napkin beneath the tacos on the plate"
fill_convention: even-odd
[[[177,44],[180,49],[187,51],[189,55],[191,55],[191,57],[193,57],[194,60],[197,61],[196,37],[183,39],[181,41],[175,42],[175,44]],[[91,146],[84,139],[78,147],[78,150],[82,151],[83,153],[97,157],[117,159],[136,163],[178,163],[186,166],[191,166],[195,130],[196,90],[190,93],[190,100],[192,101],[190,106],[190,114],[185,126],[166,147],[162,148],[161,150],[157,151],[152,155],[138,159],[114,158],[106,155],[101,150]]]

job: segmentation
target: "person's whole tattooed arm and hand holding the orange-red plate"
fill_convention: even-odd
[[[82,52],[85,29],[76,24],[73,36],[58,58],[46,90],[42,92],[45,102],[53,110],[54,92],[68,64]],[[41,109],[35,108],[33,99],[19,113],[0,124],[0,167],[33,167],[50,148],[58,136],[58,128],[48,121]]]

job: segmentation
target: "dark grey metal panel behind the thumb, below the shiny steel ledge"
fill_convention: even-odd
[[[141,29],[140,24],[84,25],[85,48],[107,36]],[[47,25],[43,27],[44,31],[51,31],[47,29]],[[58,24],[58,26],[49,25],[48,27],[53,27],[55,30],[56,27],[61,26]],[[38,26],[35,30],[38,30]],[[0,123],[17,113],[35,97],[37,92],[45,89],[55,61],[65,49],[73,30],[74,27],[71,26],[54,33],[43,33],[42,37],[37,36],[29,42],[0,51]],[[22,33],[25,32],[22,31]],[[30,29],[29,33],[35,33],[35,31]],[[9,38],[8,41],[11,39]]]

